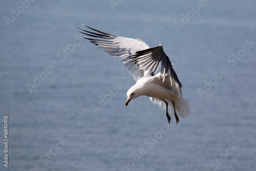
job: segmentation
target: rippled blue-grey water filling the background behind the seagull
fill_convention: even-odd
[[[255,170],[256,44],[248,41],[256,41],[256,2],[113,2],[2,2],[1,170]],[[161,43],[191,115],[166,126],[165,111],[147,97],[125,107],[135,81],[77,38],[78,21]]]

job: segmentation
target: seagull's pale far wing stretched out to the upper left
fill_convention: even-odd
[[[81,23],[80,23],[81,24]],[[121,59],[125,63],[125,68],[129,74],[137,81],[144,76],[143,70],[137,67],[129,58],[131,53],[148,49],[149,47],[140,39],[126,38],[105,33],[86,25],[81,24],[89,30],[80,29],[80,33],[87,35],[84,37],[109,55]]]

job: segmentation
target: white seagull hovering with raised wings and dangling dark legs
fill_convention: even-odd
[[[161,44],[150,48],[141,39],[120,37],[81,25],[84,29],[77,28],[87,36],[84,38],[120,59],[135,79],[136,83],[127,91],[126,106],[131,100],[144,95],[166,110],[168,123],[171,120],[168,111],[174,114],[177,124],[178,115],[182,118],[188,117],[190,109],[188,102],[182,97],[182,84]],[[160,71],[156,74],[160,63]]]

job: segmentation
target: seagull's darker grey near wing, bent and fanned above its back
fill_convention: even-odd
[[[137,65],[144,72],[156,73],[161,63],[160,75],[163,77],[162,82],[165,78],[170,80],[170,86],[173,85],[177,89],[182,88],[182,84],[179,81],[177,74],[173,69],[173,65],[169,60],[169,57],[163,51],[163,47],[160,44],[155,48],[145,49],[130,54],[131,61]]]

